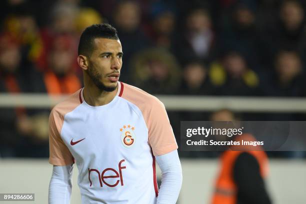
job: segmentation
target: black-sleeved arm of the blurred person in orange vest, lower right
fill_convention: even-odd
[[[259,164],[251,154],[243,152],[237,157],[233,176],[238,188],[239,201],[249,204],[271,203],[260,175]]]

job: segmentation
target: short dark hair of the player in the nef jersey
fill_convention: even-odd
[[[108,23],[92,24],[86,27],[82,32],[79,43],[77,54],[83,54],[89,56],[93,50],[93,40],[95,38],[107,38],[107,39],[119,39],[117,30]]]

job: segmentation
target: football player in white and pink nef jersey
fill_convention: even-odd
[[[93,24],[80,36],[84,87],[49,118],[49,203],[69,203],[72,164],[82,203],[175,203],[181,186],[177,144],[163,104],[119,82],[122,47],[116,29]],[[155,159],[161,169],[158,192]]]

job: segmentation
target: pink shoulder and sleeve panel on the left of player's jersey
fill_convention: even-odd
[[[69,165],[73,157],[63,143],[60,132],[66,113],[72,111],[81,103],[81,89],[55,105],[49,116],[49,163],[53,165]]]

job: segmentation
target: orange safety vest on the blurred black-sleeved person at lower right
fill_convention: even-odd
[[[256,141],[251,134],[237,136],[236,141],[241,139],[247,141]],[[240,143],[241,144],[241,143]],[[215,191],[212,196],[211,204],[236,204],[237,187],[233,179],[233,166],[236,158],[243,152],[254,156],[259,163],[261,176],[264,178],[268,172],[268,158],[261,147],[241,147],[243,150],[226,150],[223,152],[221,160],[221,170],[216,179]],[[255,149],[255,150],[254,150]]]

